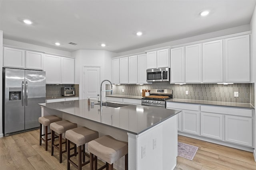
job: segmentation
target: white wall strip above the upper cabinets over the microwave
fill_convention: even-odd
[[[117,55],[115,57],[122,56],[122,55],[130,55],[130,54],[134,54],[134,53],[140,53],[140,52],[143,52],[143,51],[146,51],[146,50],[156,49],[156,48],[160,48],[160,47],[191,43],[191,42],[200,41],[200,40],[204,40],[204,39],[216,38],[216,37],[221,37],[221,36],[235,34],[235,33],[241,33],[241,32],[250,31],[250,30],[251,29],[250,29],[249,24],[241,25],[241,26],[238,26],[238,27],[232,27],[232,28],[223,29],[223,30],[220,30],[220,31],[215,31],[215,32],[206,33],[206,34],[201,34],[201,35],[197,35],[197,36],[193,36],[193,37],[178,39],[178,40],[175,40],[175,41],[169,41],[169,42],[166,42],[166,43],[151,45],[151,46],[143,47],[143,48],[140,48],[140,49],[134,49],[134,50],[131,50],[131,51],[124,51],[124,52],[121,52],[121,53],[117,53]]]

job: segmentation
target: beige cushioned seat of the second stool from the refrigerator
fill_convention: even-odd
[[[76,123],[72,123],[68,120],[57,121],[50,124],[50,129],[52,129],[54,132],[58,134],[64,133],[67,130],[74,129],[76,127],[77,127]]]

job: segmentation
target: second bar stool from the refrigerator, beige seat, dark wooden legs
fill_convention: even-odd
[[[72,123],[68,120],[56,121],[50,124],[50,129],[52,130],[52,139],[54,139],[55,133],[59,134],[59,143],[54,145],[54,140],[52,140],[52,153],[54,152],[54,147],[59,150],[60,163],[62,162],[62,153],[67,151],[67,139],[62,143],[62,133],[69,129],[74,129],[77,127],[76,123]],[[65,150],[62,151],[62,144],[65,143]],[[76,154],[76,146],[74,146],[74,153]]]

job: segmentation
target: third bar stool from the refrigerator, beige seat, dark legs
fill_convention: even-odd
[[[70,170],[70,163],[78,170],[82,170],[82,166],[88,164],[90,160],[85,162],[85,155],[89,157],[89,154],[85,153],[85,144],[97,139],[99,133],[87,127],[78,127],[66,131],[66,139],[68,140],[68,160],[67,169]],[[70,141],[78,146],[78,164],[75,164],[70,158],[75,154],[70,155]],[[83,163],[82,163],[83,160]]]

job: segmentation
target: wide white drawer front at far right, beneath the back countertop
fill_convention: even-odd
[[[252,117],[251,109],[239,109],[231,107],[201,106],[201,111],[210,113],[221,113],[226,115],[238,115]]]

